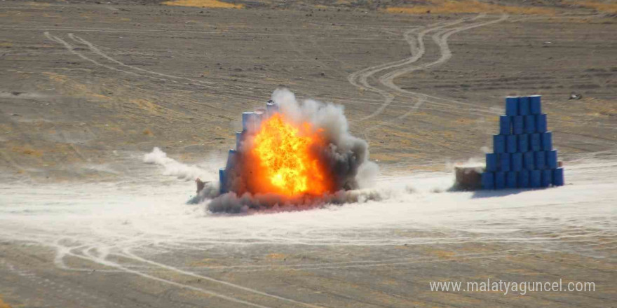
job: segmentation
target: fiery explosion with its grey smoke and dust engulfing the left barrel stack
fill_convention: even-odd
[[[278,89],[266,109],[243,113],[242,123],[219,188],[208,186],[191,202],[211,199],[210,211],[238,212],[378,197],[357,190],[379,171],[366,141],[349,133],[343,106],[300,103]]]

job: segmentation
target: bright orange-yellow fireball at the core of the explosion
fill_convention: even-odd
[[[330,181],[311,152],[323,144],[308,123],[295,127],[279,113],[265,120],[251,150],[260,167],[255,174],[259,190],[287,196],[327,193]]]

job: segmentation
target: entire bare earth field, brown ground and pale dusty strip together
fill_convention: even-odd
[[[101,2],[0,2],[0,308],[617,302],[609,4]],[[344,105],[381,200],[214,215],[184,204],[194,183],[142,161],[158,146],[217,179],[240,113],[277,87]],[[451,163],[491,146],[509,94],[543,95],[567,186],[447,192]],[[429,286],[487,279],[595,291]]]

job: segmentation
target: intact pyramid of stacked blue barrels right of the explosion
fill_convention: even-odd
[[[506,97],[506,115],[499,117],[493,152],[487,153],[483,189],[564,185],[564,169],[557,165],[540,95]]]

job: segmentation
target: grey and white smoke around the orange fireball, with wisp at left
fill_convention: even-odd
[[[239,146],[238,155],[226,165],[226,183],[229,193],[220,194],[219,183],[205,183],[205,188],[188,203],[205,203],[208,211],[239,213],[249,210],[262,210],[285,207],[285,209],[317,207],[323,204],[344,204],[382,200],[384,193],[368,189],[379,174],[379,167],[370,162],[366,141],[353,137],[349,132],[344,106],[306,99],[299,102],[295,95],[285,88],[273,92],[272,101],[285,120],[298,127],[309,123],[319,132],[323,143],[311,148],[326,176],[332,181],[332,188],[324,195],[301,195],[290,197],[251,190],[256,181],[246,176],[255,172],[254,163],[245,158],[245,148],[250,148],[254,136],[248,134]],[[230,134],[233,132],[230,132]],[[248,152],[248,151],[246,151]],[[191,167],[168,158],[163,151],[154,148],[144,156],[144,162],[155,163],[165,168],[165,174],[179,179],[195,179],[203,170]],[[252,176],[255,178],[255,176]]]

